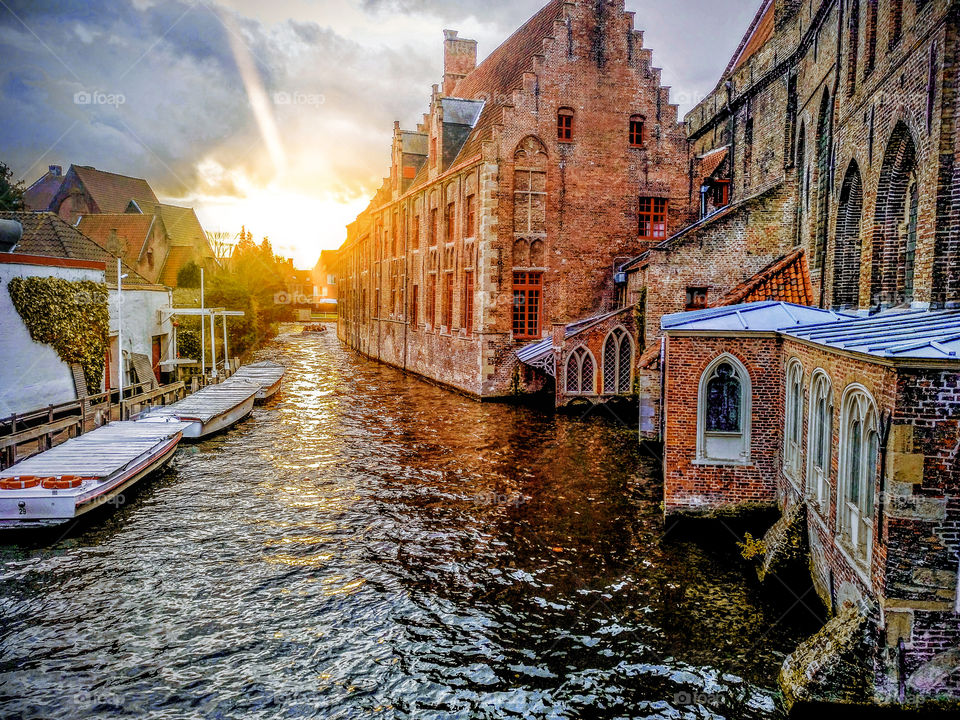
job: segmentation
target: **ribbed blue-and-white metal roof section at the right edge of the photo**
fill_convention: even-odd
[[[886,312],[840,325],[808,325],[783,332],[876,357],[960,360],[960,310]]]

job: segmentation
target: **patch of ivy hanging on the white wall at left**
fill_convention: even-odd
[[[87,390],[99,392],[110,331],[107,286],[91,280],[15,277],[7,292],[30,337],[52,346],[65,363],[79,363]]]

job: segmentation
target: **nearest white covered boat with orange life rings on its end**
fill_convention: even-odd
[[[183,423],[115,422],[0,472],[0,530],[55,527],[104,505],[166,465]]]

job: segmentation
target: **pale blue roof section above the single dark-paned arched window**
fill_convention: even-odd
[[[833,310],[765,301],[664,315],[660,327],[664,330],[777,332],[787,327],[813,323],[836,325],[853,319],[852,315]]]

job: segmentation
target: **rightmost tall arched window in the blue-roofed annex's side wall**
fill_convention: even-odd
[[[837,527],[854,557],[869,568],[880,435],[876,404],[865,388],[847,389],[841,418]]]

